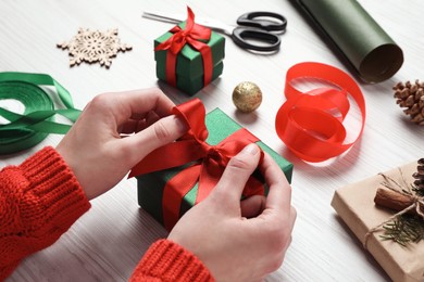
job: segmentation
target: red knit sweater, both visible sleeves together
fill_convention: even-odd
[[[88,209],[75,176],[53,148],[0,171],[0,281],[20,261],[53,244]],[[204,265],[169,240],[155,242],[132,281],[213,281]]]

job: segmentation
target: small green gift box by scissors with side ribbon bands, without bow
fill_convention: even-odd
[[[179,29],[184,30],[186,22],[178,25]],[[174,28],[175,29],[175,28]],[[158,46],[166,42],[177,31],[171,29],[164,35],[154,40],[154,60],[157,62],[157,77],[189,95],[194,95],[200,89],[205,87],[205,84],[216,79],[224,69],[224,47],[225,38],[214,31],[210,31],[209,40],[199,39],[198,42],[203,43],[202,48],[210,49],[211,57],[205,60],[202,51],[196,50],[190,40],[184,43],[184,47],[176,54],[174,63],[170,63],[170,49],[157,50]],[[180,40],[178,40],[180,41]],[[194,42],[194,41],[191,41]],[[196,43],[196,42],[195,42]],[[211,77],[205,79],[205,74],[211,74]],[[167,74],[175,76],[175,85],[169,81]]]

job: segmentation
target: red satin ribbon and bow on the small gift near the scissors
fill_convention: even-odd
[[[203,60],[203,82],[204,86],[212,81],[213,61],[211,48],[199,40],[209,41],[211,38],[211,29],[195,23],[195,14],[191,9],[187,7],[187,22],[186,27],[182,29],[179,26],[173,27],[170,31],[174,35],[166,41],[160,43],[154,48],[154,51],[167,50],[166,52],[166,81],[176,86],[176,60],[177,54],[183,47],[188,43],[195,50],[199,51]]]

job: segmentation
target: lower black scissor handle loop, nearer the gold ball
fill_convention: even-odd
[[[249,40],[250,39],[250,40]],[[236,44],[242,49],[260,51],[260,52],[272,52],[279,48],[280,40],[277,35],[262,31],[260,29],[242,28],[237,27],[233,30],[233,40]],[[261,43],[251,43],[260,41]]]

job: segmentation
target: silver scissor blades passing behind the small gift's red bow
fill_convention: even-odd
[[[172,23],[172,24],[178,24],[178,23],[187,20],[187,15],[171,14],[171,13],[164,13],[164,12],[148,12],[148,11],[145,11],[142,13],[142,17],[155,20],[155,21],[160,21],[160,22],[165,22],[165,23]],[[195,22],[199,25],[209,27],[213,30],[226,34],[228,36],[232,35],[233,29],[235,28],[234,26],[221,23],[221,22],[215,21],[213,18],[196,17]]]

